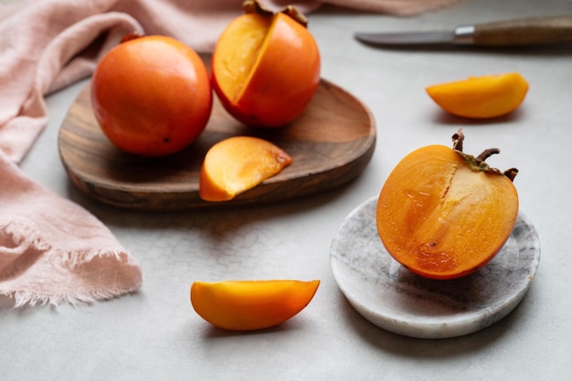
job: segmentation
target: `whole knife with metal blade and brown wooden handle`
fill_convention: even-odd
[[[365,44],[386,47],[461,45],[524,47],[572,42],[572,16],[530,17],[457,26],[450,31],[356,33]]]

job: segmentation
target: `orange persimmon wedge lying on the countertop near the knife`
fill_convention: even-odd
[[[441,83],[426,91],[451,114],[486,119],[514,111],[524,101],[528,82],[519,73],[505,73]]]

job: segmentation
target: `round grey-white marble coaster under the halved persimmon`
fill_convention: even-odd
[[[519,213],[511,237],[488,265],[457,280],[413,274],[387,253],[377,234],[377,197],[344,220],[331,248],[334,278],[371,323],[418,338],[474,333],[522,301],[540,260],[535,227]]]

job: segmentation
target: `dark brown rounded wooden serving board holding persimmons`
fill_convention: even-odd
[[[236,122],[217,101],[195,143],[163,158],[124,153],[101,132],[90,104],[90,84],[81,90],[58,135],[61,161],[81,191],[104,203],[141,210],[237,206],[307,196],[359,175],[376,143],[376,123],[365,105],[322,80],[312,102],[295,122],[280,129],[255,129]],[[292,164],[279,175],[225,202],[198,196],[207,150],[233,135],[252,135],[280,146]]]

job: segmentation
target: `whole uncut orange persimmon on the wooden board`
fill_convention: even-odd
[[[193,143],[212,110],[204,62],[172,37],[125,38],[99,62],[91,104],[101,130],[128,153],[164,156]]]

